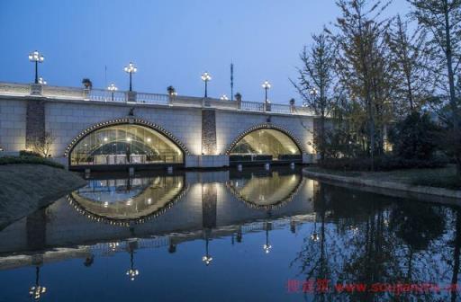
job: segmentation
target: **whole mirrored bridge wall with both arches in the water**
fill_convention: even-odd
[[[223,235],[241,242],[278,218],[312,220],[314,182],[299,169],[96,178],[0,232],[8,243],[0,246],[0,269],[32,264],[37,257],[30,253],[43,262],[154,246],[173,253],[198,238],[207,245]]]

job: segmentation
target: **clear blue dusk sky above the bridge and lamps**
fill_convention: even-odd
[[[394,0],[387,13],[408,12]],[[31,83],[27,56],[38,49],[48,84],[80,86],[88,77],[97,88],[126,90],[123,67],[132,61],[136,91],[166,93],[172,84],[202,96],[208,71],[209,95],[219,97],[230,96],[233,61],[234,93],[263,101],[267,79],[269,99],[287,103],[299,100],[288,79],[303,45],[337,16],[333,0],[0,0],[0,81]]]

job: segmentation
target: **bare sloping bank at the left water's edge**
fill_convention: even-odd
[[[76,173],[49,165],[0,165],[0,230],[85,184]]]

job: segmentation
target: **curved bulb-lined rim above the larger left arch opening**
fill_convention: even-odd
[[[133,120],[133,123],[130,123],[130,120]],[[76,138],[72,139],[70,144],[68,144],[68,147],[66,147],[66,150],[64,151],[64,156],[68,157],[69,152],[77,145],[77,143],[82,139],[85,138],[88,134],[91,132],[97,130],[97,129],[104,129],[109,126],[114,126],[114,125],[120,125],[120,124],[135,124],[135,125],[140,125],[140,126],[147,126],[149,129],[156,130],[160,134],[163,134],[167,138],[169,138],[171,141],[173,141],[178,147],[182,149],[182,151],[185,153],[185,155],[190,155],[189,150],[185,145],[177,139],[171,132],[167,131],[167,129],[164,129],[163,127],[160,127],[152,122],[145,121],[145,120],[140,120],[140,119],[115,119],[115,120],[107,120],[103,122],[99,122],[84,131],[80,132]]]

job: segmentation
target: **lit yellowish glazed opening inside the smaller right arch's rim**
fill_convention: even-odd
[[[301,156],[301,151],[293,139],[284,132],[276,129],[258,129],[241,138],[230,150],[230,155],[284,160]]]

